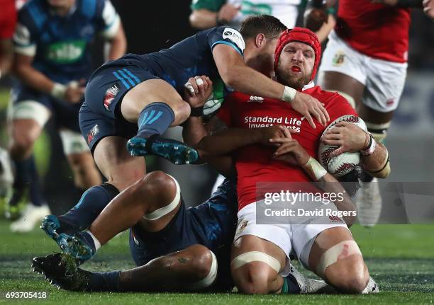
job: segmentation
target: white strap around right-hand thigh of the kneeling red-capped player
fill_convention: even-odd
[[[357,243],[351,240],[341,241],[323,253],[318,263],[318,267],[316,267],[316,274],[324,278],[325,269],[328,266],[354,254],[362,255]]]

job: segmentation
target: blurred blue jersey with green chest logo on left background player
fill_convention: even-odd
[[[96,33],[112,38],[120,19],[109,0],[77,0],[67,16],[53,13],[46,0],[30,0],[18,12],[15,51],[34,57],[33,67],[62,84],[88,79],[89,45]]]

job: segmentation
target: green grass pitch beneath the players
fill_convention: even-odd
[[[434,301],[434,225],[355,226],[352,233],[381,293],[377,295],[245,296],[241,294],[145,294],[65,292],[30,270],[30,259],[57,251],[40,229],[11,234],[0,221],[0,304],[432,304]],[[128,234],[113,239],[88,270],[133,267]],[[5,292],[48,292],[48,299],[6,299]]]

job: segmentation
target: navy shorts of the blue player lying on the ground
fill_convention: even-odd
[[[238,201],[236,183],[226,179],[210,199],[197,207],[179,211],[165,229],[146,232],[138,226],[130,230],[130,252],[135,263],[145,265],[150,260],[180,251],[195,244],[213,251],[218,261],[218,277],[213,289],[232,289],[230,248],[237,225]]]

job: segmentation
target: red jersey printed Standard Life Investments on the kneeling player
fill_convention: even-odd
[[[355,110],[338,93],[323,91],[319,86],[306,89],[304,93],[325,104],[330,122],[343,115],[356,115]],[[308,154],[318,159],[319,139],[325,127],[315,121],[316,129],[313,129],[300,113],[282,100],[264,98],[258,101],[257,98],[250,99],[250,96],[244,93],[235,92],[226,98],[217,116],[228,127],[257,128],[279,124],[294,128],[297,133],[292,134],[292,137],[299,141]],[[238,209],[262,199],[262,194],[257,194],[257,183],[311,181],[303,168],[273,160],[274,150],[271,146],[257,144],[245,146],[233,154],[238,172]],[[279,185],[279,188],[281,187],[282,185]],[[299,190],[297,188],[289,191]],[[311,188],[302,191],[318,192],[318,189],[311,185]],[[270,189],[267,192],[280,192],[280,189]]]

